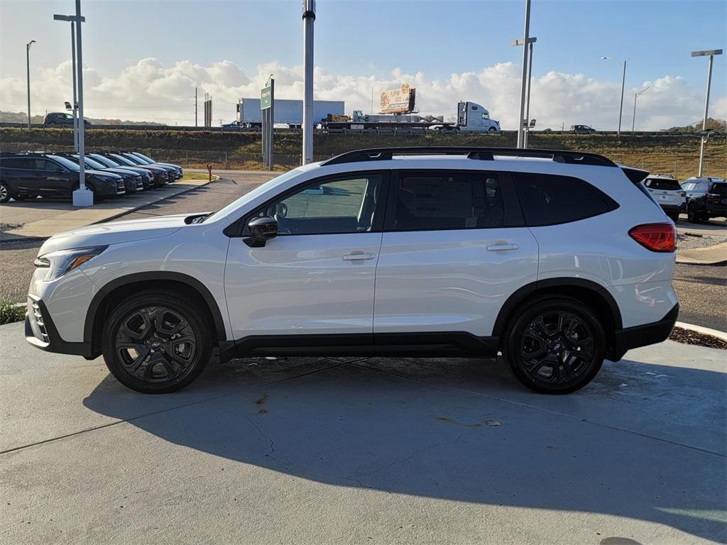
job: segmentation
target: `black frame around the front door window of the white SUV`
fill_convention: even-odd
[[[225,233],[230,238],[244,238],[248,236],[245,233],[245,227],[247,227],[247,222],[254,217],[260,209],[265,208],[266,206],[270,206],[270,204],[276,202],[276,201],[283,201],[284,199],[288,198],[291,195],[294,195],[298,191],[301,190],[302,187],[305,187],[307,185],[315,185],[315,184],[324,184],[327,181],[333,181],[337,179],[351,179],[361,176],[366,176],[367,174],[382,174],[382,187],[379,189],[379,202],[377,203],[377,209],[379,207],[382,207],[382,211],[386,211],[386,205],[387,205],[387,198],[389,194],[389,182],[391,178],[391,169],[366,169],[366,170],[358,170],[358,171],[348,171],[348,172],[338,172],[336,174],[325,174],[324,176],[317,177],[317,178],[311,178],[306,180],[305,182],[300,182],[299,184],[294,185],[293,187],[289,188],[288,190],[285,190],[281,193],[277,193],[273,197],[269,198],[264,203],[255,206],[252,211],[247,212],[246,214],[242,215],[235,221],[233,221],[228,227],[225,227],[225,229],[222,231],[222,233]],[[382,202],[382,196],[384,197]],[[278,237],[285,236],[324,236],[324,235],[357,235],[358,233],[381,233],[382,231],[382,225],[384,223],[384,216],[385,214],[375,214],[374,216],[374,224],[371,225],[371,229],[368,231],[351,231],[351,232],[342,232],[342,233],[278,233]]]

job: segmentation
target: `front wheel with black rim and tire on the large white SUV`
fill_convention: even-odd
[[[209,361],[212,331],[209,317],[180,294],[142,291],[111,310],[102,330],[103,359],[137,392],[176,392]]]

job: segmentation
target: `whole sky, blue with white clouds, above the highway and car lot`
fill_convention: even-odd
[[[504,129],[518,118],[524,0],[317,0],[316,99],[371,111],[407,82],[422,113],[455,115],[478,102]],[[87,118],[194,124],[194,89],[213,97],[214,124],[235,118],[238,98],[259,97],[272,73],[278,98],[302,98],[300,1],[83,0]],[[25,111],[25,44],[31,113],[71,100],[72,0],[0,0],[0,110]],[[537,126],[615,129],[626,61],[623,126],[656,130],[704,113],[707,57],[722,49],[727,2],[532,0],[531,118]],[[615,60],[601,60],[608,56]],[[727,55],[715,57],[710,116],[727,118]]]

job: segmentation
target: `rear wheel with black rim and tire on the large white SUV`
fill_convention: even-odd
[[[606,333],[598,316],[566,296],[541,296],[520,305],[502,343],[515,378],[543,394],[581,389],[598,374],[605,354]]]

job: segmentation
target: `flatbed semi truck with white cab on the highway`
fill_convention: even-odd
[[[412,89],[413,90],[413,89]],[[443,116],[419,116],[418,114],[375,115],[353,110],[351,116],[326,116],[325,129],[430,129],[440,132],[497,132],[499,121],[490,118],[490,113],[475,102],[457,104],[457,121],[444,122]]]

